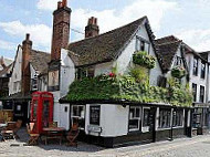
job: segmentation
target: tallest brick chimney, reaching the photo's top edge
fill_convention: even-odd
[[[61,57],[61,49],[66,48],[70,39],[70,15],[72,10],[67,7],[67,0],[57,2],[57,9],[53,12],[53,36],[51,60]]]

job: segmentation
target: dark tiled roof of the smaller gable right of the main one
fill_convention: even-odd
[[[170,70],[172,60],[181,41],[172,35],[156,40],[156,49],[158,60],[161,64],[162,71],[167,72]]]

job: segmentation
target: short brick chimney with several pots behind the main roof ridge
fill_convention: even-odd
[[[99,34],[99,27],[97,25],[97,18],[90,18],[85,27],[85,38],[96,36]]]

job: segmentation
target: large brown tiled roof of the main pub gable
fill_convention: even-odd
[[[154,38],[148,27],[147,17],[143,17],[127,25],[104,34],[71,43],[69,45],[69,55],[76,66],[113,61],[120,55],[122,50],[128,44],[129,40],[144,21],[147,21],[147,30],[149,30],[149,35]]]

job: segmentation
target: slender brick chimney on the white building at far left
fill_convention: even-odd
[[[32,41],[30,40],[30,34],[27,34],[25,40],[22,42],[22,82],[21,91],[25,95],[30,92],[30,56],[32,50]]]

